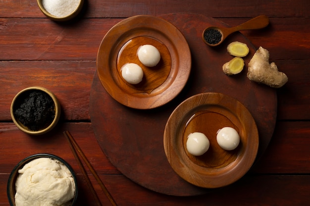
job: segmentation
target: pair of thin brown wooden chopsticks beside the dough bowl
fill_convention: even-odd
[[[107,199],[110,201],[112,206],[117,206],[113,197],[111,196],[111,194],[108,192],[108,190],[106,189],[106,187],[104,186],[103,182],[101,181],[100,177],[98,176],[97,172],[95,171],[94,167],[90,164],[90,162],[87,160],[86,156],[84,155],[83,151],[81,150],[81,148],[79,147],[79,145],[76,143],[76,141],[73,139],[73,137],[71,136],[69,131],[64,131],[63,132],[64,136],[67,138],[68,142],[69,142],[69,146],[70,149],[72,150],[72,153],[74,155],[74,158],[76,159],[76,161],[78,162],[78,165],[80,167],[80,169],[82,170],[82,173],[84,175],[84,178],[88,184],[88,187],[90,188],[94,198],[96,199],[97,205],[98,206],[102,206],[98,195],[86,173],[86,170],[79,158],[79,156],[77,155],[76,151],[80,154],[80,156],[82,157],[83,161],[85,162],[85,164],[88,166],[88,168],[90,169],[90,171],[92,172],[92,174],[94,175],[95,179],[97,180],[98,184],[100,185],[101,189],[103,190],[103,193],[106,195]]]

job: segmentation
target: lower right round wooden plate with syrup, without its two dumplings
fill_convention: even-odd
[[[232,151],[220,148],[216,132],[235,128],[239,146]],[[206,134],[209,150],[193,156],[186,150],[187,136]],[[218,188],[240,179],[253,165],[258,153],[258,129],[247,108],[221,93],[202,93],[182,102],[171,114],[164,130],[164,150],[168,162],[186,181],[204,188]]]

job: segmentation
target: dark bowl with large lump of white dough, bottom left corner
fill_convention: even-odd
[[[7,182],[10,206],[74,206],[77,195],[72,167],[51,154],[25,158],[13,168]]]

